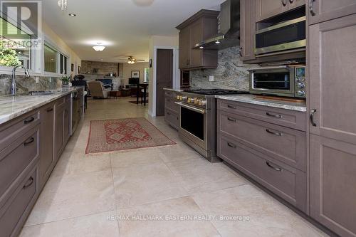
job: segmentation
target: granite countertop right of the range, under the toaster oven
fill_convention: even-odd
[[[268,100],[256,98],[256,95],[216,95],[215,98],[222,100],[231,100],[236,102],[246,102],[253,105],[263,105],[268,107],[276,107],[285,110],[294,110],[306,112],[307,105],[305,102],[288,102],[282,100]]]

